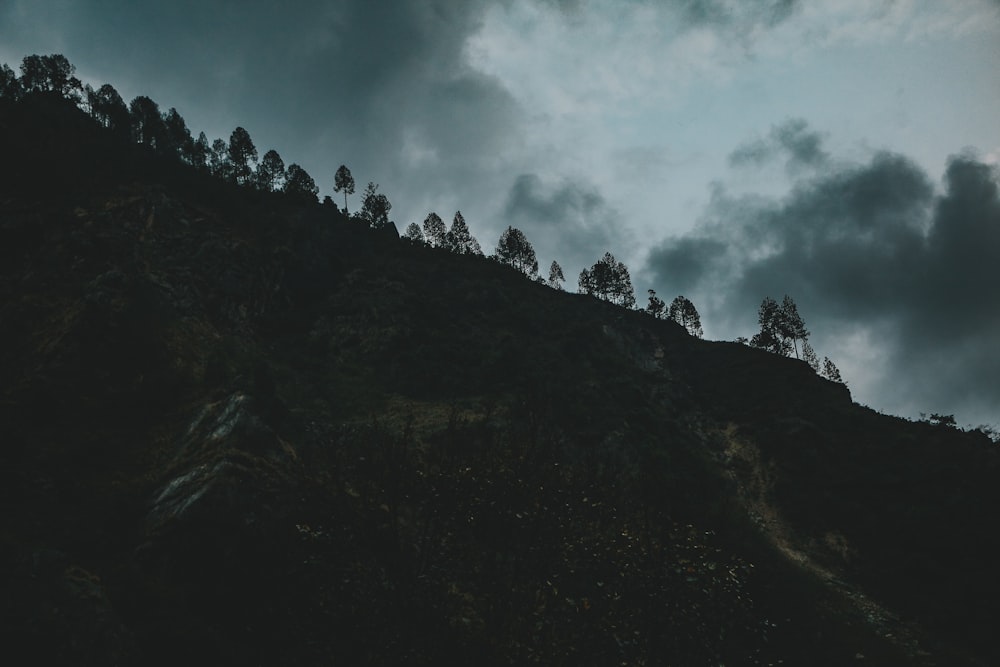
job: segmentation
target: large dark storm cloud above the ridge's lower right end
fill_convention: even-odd
[[[882,153],[802,180],[778,201],[720,186],[699,228],[664,242],[647,268],[744,335],[764,296],[792,294],[815,340],[852,328],[875,336],[887,369],[875,389],[882,405],[996,422],[997,183],[995,167],[962,155],[935,194],[916,164]]]

